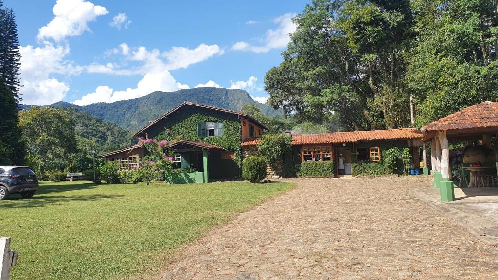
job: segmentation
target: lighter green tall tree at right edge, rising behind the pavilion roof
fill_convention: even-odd
[[[413,0],[415,43],[406,83],[422,126],[465,107],[498,100],[498,2]]]

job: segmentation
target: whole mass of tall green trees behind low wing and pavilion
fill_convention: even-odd
[[[417,125],[496,100],[498,8],[490,0],[312,0],[283,62],[265,75],[269,104],[338,130]]]

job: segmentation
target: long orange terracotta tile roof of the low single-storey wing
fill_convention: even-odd
[[[367,140],[421,139],[422,134],[416,129],[395,129],[375,131],[333,132],[321,134],[299,134],[292,136],[293,145],[350,143]],[[242,146],[257,145],[259,140],[251,137],[242,142]]]

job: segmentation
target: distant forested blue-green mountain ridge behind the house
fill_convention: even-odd
[[[202,87],[176,92],[156,91],[149,95],[122,100],[113,103],[93,103],[87,106],[77,106],[68,102],[57,102],[48,107],[76,108],[103,121],[118,125],[128,131],[138,131],[149,121],[155,120],[167,111],[184,101],[201,103],[229,110],[240,111],[245,104],[254,104],[265,115],[279,115],[281,112],[273,110],[268,104],[254,101],[244,90],[229,90],[213,87]],[[29,108],[21,105],[21,109]]]

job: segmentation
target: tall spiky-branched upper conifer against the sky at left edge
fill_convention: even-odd
[[[1,7],[0,2],[0,7]],[[17,38],[17,24],[12,9],[0,9],[0,77],[12,91],[14,97],[19,97],[20,45]]]

